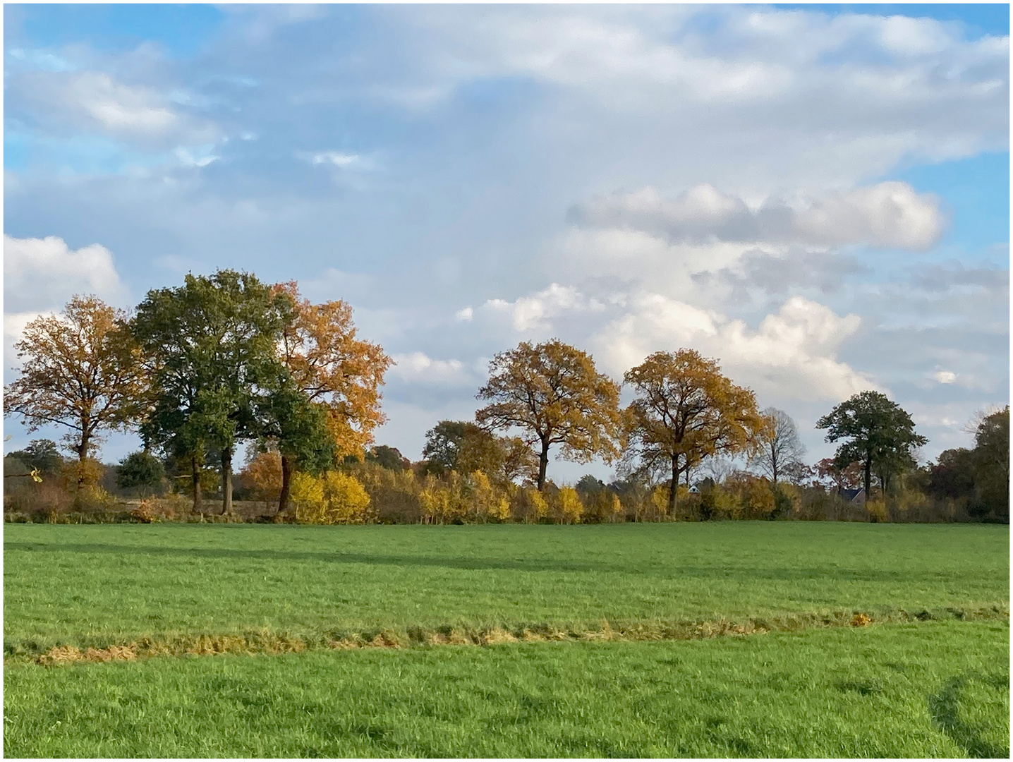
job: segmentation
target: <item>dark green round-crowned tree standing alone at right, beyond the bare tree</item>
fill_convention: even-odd
[[[816,422],[816,429],[828,430],[828,442],[844,440],[834,458],[838,466],[862,463],[868,497],[874,467],[885,493],[889,477],[913,465],[913,451],[928,442],[915,433],[911,415],[877,391],[859,392],[841,402]]]

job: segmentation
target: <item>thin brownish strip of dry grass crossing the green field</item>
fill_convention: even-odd
[[[865,627],[919,621],[1008,620],[1008,608],[947,608],[929,611],[897,611],[875,614],[864,611],[838,611],[832,614],[798,614],[777,618],[750,618],[741,621],[718,619],[670,624],[637,623],[624,625],[602,620],[594,629],[575,629],[551,624],[520,624],[513,627],[460,627],[447,625],[436,629],[408,627],[405,630],[366,632],[326,632],[305,637],[254,631],[239,634],[179,634],[166,637],[142,637],[131,642],[55,645],[47,651],[22,645],[17,656],[6,664],[58,666],[79,662],[122,662],[152,657],[216,656],[221,654],[299,654],[306,651],[354,649],[404,649],[426,645],[496,645],[514,642],[588,642],[650,640],[696,640],[727,635],[752,635],[766,632],[798,632],[825,627]]]

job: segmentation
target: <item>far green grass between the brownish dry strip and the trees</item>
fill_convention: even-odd
[[[1009,606],[998,526],[4,528],[8,656],[249,631],[576,629]]]

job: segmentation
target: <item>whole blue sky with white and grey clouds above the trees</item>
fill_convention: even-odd
[[[1009,401],[1009,72],[1008,5],[7,4],[4,381],[73,294],[234,268],[353,305],[412,459],[555,336],[716,358],[809,462],[882,391],[931,460]]]

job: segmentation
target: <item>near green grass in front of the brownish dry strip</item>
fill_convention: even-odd
[[[1006,622],[4,671],[8,757],[1009,756]]]

